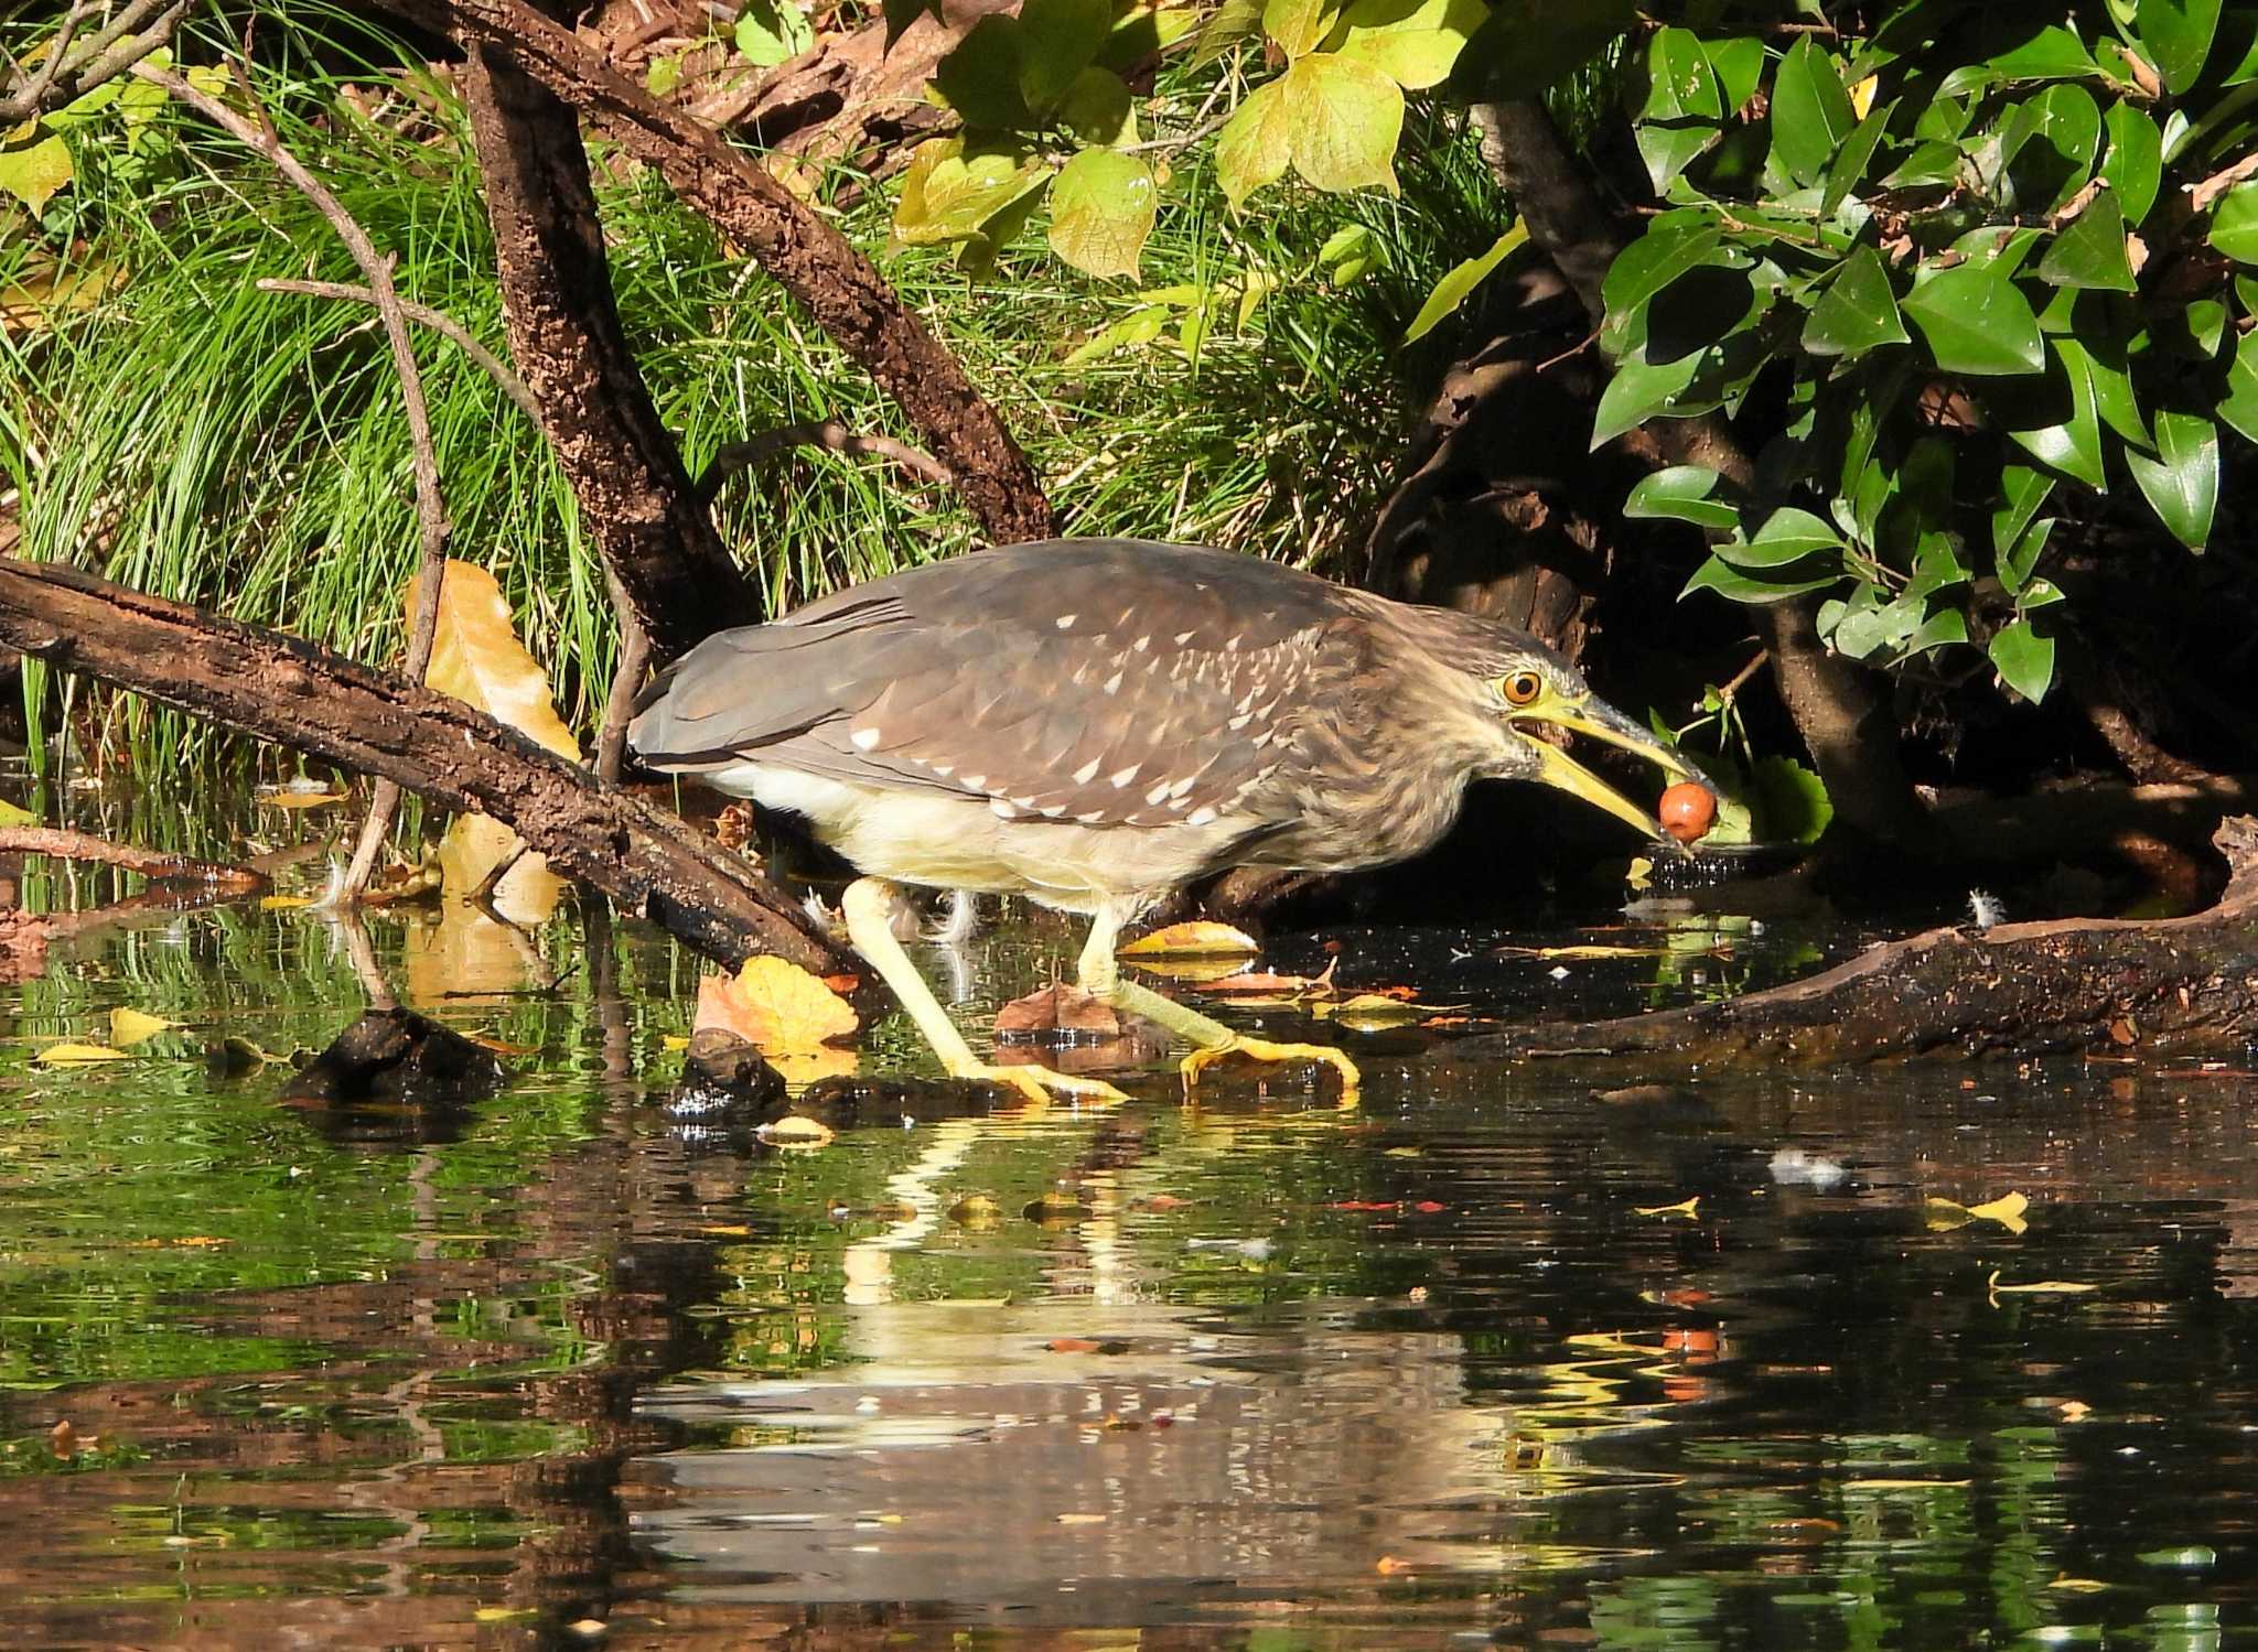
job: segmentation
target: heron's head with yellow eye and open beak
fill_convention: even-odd
[[[1664,835],[1653,812],[1633,803],[1544,736],[1551,729],[1567,729],[1587,740],[1635,752],[1671,781],[1694,781],[1716,792],[1716,783],[1707,774],[1594,695],[1583,673],[1535,636],[1447,609],[1411,609],[1411,614],[1418,616],[1411,623],[1425,632],[1418,639],[1423,652],[1447,666],[1461,684],[1452,695],[1459,702],[1454,715],[1472,709],[1484,729],[1488,752],[1479,765],[1484,776],[1551,785],[1662,842],[1673,840]],[[1463,695],[1468,693],[1474,700],[1472,706],[1465,706]]]

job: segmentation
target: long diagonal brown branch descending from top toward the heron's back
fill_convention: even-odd
[[[646,95],[571,29],[522,0],[382,5],[456,36],[465,47],[506,52],[526,79],[655,167],[675,194],[806,305],[815,325],[901,404],[924,445],[955,474],[989,539],[1012,544],[1057,530],[1034,467],[948,345],[910,314],[863,253],[750,156],[686,111]]]

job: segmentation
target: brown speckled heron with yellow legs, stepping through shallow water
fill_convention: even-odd
[[[951,1077],[1118,1097],[975,1056],[892,928],[901,885],[1088,914],[1079,986],[1224,1056],[1319,1061],[1201,1016],[1115,964],[1170,891],[1228,867],[1355,871],[1438,842],[1477,779],[1554,785],[1666,842],[1544,731],[1700,772],[1497,621],[1395,603],[1251,555],[1054,539],[930,562],[718,632],[644,691],[628,740],[808,821],[860,873],[847,934]],[[1673,844],[1675,846],[1675,844]]]

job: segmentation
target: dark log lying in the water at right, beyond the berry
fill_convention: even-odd
[[[1452,1058],[1824,1067],[2077,1049],[2242,1054],[2258,1038],[2258,819],[2229,819],[2213,842],[2226,855],[2226,894],[2186,919],[1928,930],[1791,986],[1657,1016],[1465,1038]]]

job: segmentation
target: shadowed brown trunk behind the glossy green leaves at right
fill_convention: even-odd
[[[1477,104],[1481,153],[1513,194],[1529,237],[1544,248],[1583,300],[1592,325],[1605,316],[1601,282],[1628,244],[1592,178],[1560,140],[1542,104]],[[1707,465],[1743,487],[1754,476],[1748,454],[1716,415],[1653,420],[1646,436],[1673,465]],[[1827,781],[1836,817],[1883,844],[1917,844],[1926,815],[1897,749],[1897,718],[1872,673],[1833,654],[1818,636],[1813,598],[1752,609],[1773,657],[1773,679]]]

